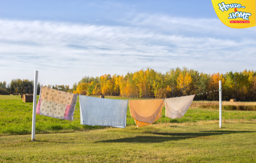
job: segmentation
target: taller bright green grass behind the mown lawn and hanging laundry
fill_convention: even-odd
[[[3,98],[0,96],[0,98]],[[13,97],[15,98],[15,97]],[[39,96],[38,96],[39,98]],[[113,97],[111,97],[113,98]],[[0,99],[0,135],[31,134],[32,103],[23,103],[22,99]],[[223,111],[225,123],[256,123],[255,111]],[[162,117],[154,124],[165,123],[218,123],[219,111],[214,109],[189,109],[181,119],[169,119],[165,116],[165,107],[162,109]],[[127,108],[127,126],[134,126],[135,122]],[[87,126],[80,124],[79,99],[77,99],[74,112],[74,121],[56,119],[52,117],[36,115],[36,134],[39,133],[63,133],[86,131],[89,129],[103,129],[103,126]]]

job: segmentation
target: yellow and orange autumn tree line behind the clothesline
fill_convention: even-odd
[[[196,94],[196,100],[218,100],[219,92],[214,90],[219,89],[219,80],[222,80],[223,100],[256,100],[256,71],[253,70],[207,74],[186,67],[170,69],[166,73],[147,68],[128,72],[125,76],[85,76],[73,85],[72,90],[73,93],[83,95],[135,98],[169,98]],[[212,92],[205,94],[210,91]]]

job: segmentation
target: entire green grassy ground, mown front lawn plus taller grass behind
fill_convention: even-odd
[[[224,110],[219,129],[216,109],[172,120],[163,108],[157,122],[137,128],[128,106],[119,129],[80,125],[78,100],[74,121],[36,115],[35,142],[32,103],[0,95],[0,114],[0,162],[256,162],[256,111]]]

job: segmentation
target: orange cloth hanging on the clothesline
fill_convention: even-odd
[[[144,127],[161,117],[163,99],[130,100],[129,105],[137,127]]]

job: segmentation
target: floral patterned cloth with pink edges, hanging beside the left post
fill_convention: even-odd
[[[77,94],[41,87],[37,114],[73,121]]]

